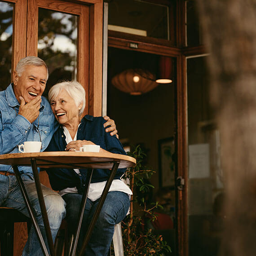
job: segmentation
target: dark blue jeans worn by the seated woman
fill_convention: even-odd
[[[75,233],[79,213],[81,194],[69,193],[62,196],[66,201],[66,220],[69,232]],[[90,220],[96,210],[99,199],[91,201],[87,199],[84,217],[79,235],[78,248],[81,248],[83,238],[87,231]],[[100,215],[96,221],[92,236],[86,247],[86,256],[106,256],[114,234],[115,224],[126,216],[130,206],[128,194],[119,191],[111,191],[107,194]]]

